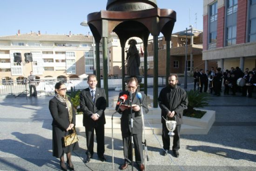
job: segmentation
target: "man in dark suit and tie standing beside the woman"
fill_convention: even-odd
[[[96,87],[96,75],[89,75],[87,81],[89,87],[81,91],[80,108],[83,112],[83,125],[85,126],[87,158],[89,162],[94,154],[94,130],[97,141],[97,154],[102,162],[104,157],[104,125],[106,124],[104,110],[106,109],[106,94],[104,89]]]

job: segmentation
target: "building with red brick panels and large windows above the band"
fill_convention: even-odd
[[[256,67],[256,0],[204,0],[203,30],[206,66]]]

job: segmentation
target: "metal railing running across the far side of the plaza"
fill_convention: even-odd
[[[83,90],[88,87],[87,79],[38,79],[36,90],[40,96],[53,95],[54,86],[57,82],[64,82],[67,86],[67,91]],[[144,78],[141,81],[144,84]],[[148,76],[148,87],[154,85],[153,76]],[[165,76],[158,77],[158,85],[165,85]],[[104,86],[101,79],[101,87]],[[108,89],[122,87],[121,77],[108,77]],[[29,92],[29,85],[26,80],[2,80],[0,81],[0,95],[13,94],[17,95],[22,92]]]

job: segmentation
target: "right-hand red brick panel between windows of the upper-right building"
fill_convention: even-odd
[[[238,0],[237,5],[236,44],[241,44],[246,38],[247,0]]]

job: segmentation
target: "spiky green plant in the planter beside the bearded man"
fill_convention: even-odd
[[[202,118],[206,113],[204,111],[195,110],[194,108],[204,107],[208,105],[210,95],[206,92],[199,92],[190,90],[187,92],[189,104],[188,109],[184,110],[184,116]]]

